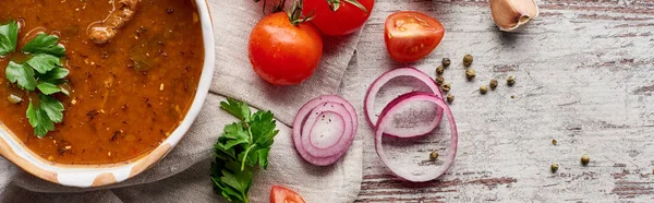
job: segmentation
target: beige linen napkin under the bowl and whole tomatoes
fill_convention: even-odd
[[[272,184],[301,193],[307,202],[352,202],[362,179],[362,135],[332,166],[316,167],[300,157],[292,144],[290,124],[308,99],[337,94],[347,69],[355,69],[359,33],[324,37],[325,55],[312,79],[301,85],[269,85],[253,71],[247,59],[247,36],[264,16],[253,0],[209,0],[216,33],[216,74],[205,106],[184,140],[152,169],[125,182],[99,189],[53,184],[28,175],[0,158],[2,202],[223,202],[214,194],[208,177],[211,145],[225,124],[234,121],[220,110],[225,96],[245,100],[276,115],[280,133],[269,155],[268,170],[255,175],[252,202],[268,202]],[[358,105],[356,105],[358,106]],[[358,112],[363,114],[360,107]],[[82,192],[82,193],[81,193]]]

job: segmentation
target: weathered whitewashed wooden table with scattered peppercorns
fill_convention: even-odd
[[[505,34],[486,1],[377,1],[358,47],[361,70],[351,74],[404,65],[385,55],[390,13],[437,17],[447,29],[443,43],[410,65],[433,70],[443,57],[452,59],[445,77],[457,97],[459,151],[436,181],[409,183],[390,176],[366,138],[358,202],[654,201],[654,1],[538,4],[538,19]],[[468,52],[475,57],[474,82],[464,80],[460,65]],[[508,75],[517,77],[512,87],[504,83]],[[479,94],[492,77],[499,87]],[[431,150],[408,154],[426,157]],[[583,154],[591,157],[585,167]],[[552,163],[559,164],[557,172]]]

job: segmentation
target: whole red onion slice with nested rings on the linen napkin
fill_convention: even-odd
[[[330,116],[336,121],[323,122],[319,120],[322,116]],[[293,144],[306,162],[318,166],[331,165],[348,152],[358,128],[356,111],[348,100],[336,95],[319,96],[306,103],[295,115]],[[337,132],[324,132],[332,129]]]

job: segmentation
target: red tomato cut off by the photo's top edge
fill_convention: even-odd
[[[347,35],[363,26],[373,5],[375,0],[304,0],[302,13],[314,12],[311,23],[325,35]]]

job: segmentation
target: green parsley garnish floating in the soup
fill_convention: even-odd
[[[20,26],[15,21],[0,25],[0,57],[7,57],[16,50]],[[55,35],[38,34],[22,49],[28,53],[28,59],[23,63],[10,61],[4,69],[9,82],[27,92],[38,91],[38,99],[29,99],[26,117],[34,128],[34,134],[44,138],[48,132],[55,131],[55,123],[63,121],[63,104],[51,95],[63,93],[69,95],[60,85],[69,75],[63,68],[61,57],[65,56],[65,48],[59,45],[59,37]]]

